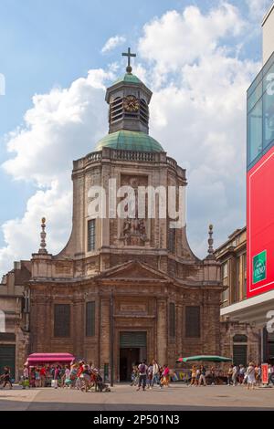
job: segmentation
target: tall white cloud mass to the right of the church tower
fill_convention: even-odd
[[[246,90],[259,65],[237,58],[237,43],[231,50],[246,27],[232,5],[208,15],[191,6],[147,24],[139,44],[152,70],[153,136],[187,168],[188,235],[199,256],[209,223],[217,244],[246,222]]]

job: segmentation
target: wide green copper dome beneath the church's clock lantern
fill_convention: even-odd
[[[99,152],[102,148],[136,152],[164,152],[158,141],[142,131],[121,130],[111,132],[99,141],[96,151]]]

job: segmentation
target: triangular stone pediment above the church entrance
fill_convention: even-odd
[[[112,267],[100,274],[101,279],[108,280],[146,280],[174,282],[174,278],[139,261],[130,261],[118,267]]]

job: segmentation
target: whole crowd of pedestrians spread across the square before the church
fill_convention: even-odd
[[[255,389],[262,382],[261,366],[253,362],[247,367],[232,364],[225,372],[215,367],[206,370],[204,365],[194,365],[187,374],[185,381],[189,387],[227,383],[227,386],[246,385],[248,389]],[[142,391],[151,390],[154,386],[163,389],[174,379],[176,373],[170,370],[167,364],[161,366],[156,360],[149,364],[142,361],[132,367],[131,385],[135,386],[137,391],[141,388]],[[11,370],[5,366],[3,374],[0,374],[0,386],[2,389],[6,386],[12,389],[12,382]],[[23,389],[51,386],[55,389],[58,387],[79,389],[83,392],[90,392],[92,388],[100,392],[110,392],[110,387],[103,382],[100,371],[92,363],[87,364],[85,361],[71,362],[67,365],[25,365],[20,384]],[[270,364],[269,384],[274,385],[274,365]]]

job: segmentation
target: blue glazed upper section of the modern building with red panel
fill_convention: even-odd
[[[248,171],[274,146],[274,52],[248,89]]]

